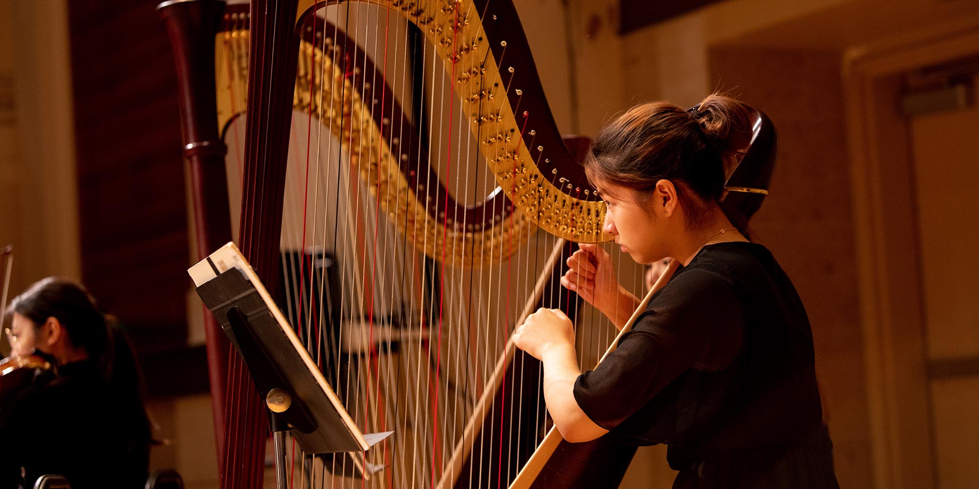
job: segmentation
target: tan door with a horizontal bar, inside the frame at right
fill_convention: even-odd
[[[979,374],[941,366],[979,358],[979,230],[962,225],[979,220],[979,108],[915,115],[910,126],[935,468],[940,487],[965,489],[979,483]]]

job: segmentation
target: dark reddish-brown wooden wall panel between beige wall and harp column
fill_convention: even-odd
[[[144,356],[183,348],[177,82],[153,1],[69,2],[82,280]]]

